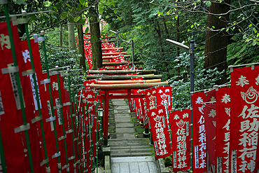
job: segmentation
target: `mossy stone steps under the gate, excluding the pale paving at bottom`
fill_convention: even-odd
[[[137,157],[154,155],[153,146],[148,138],[137,138],[132,119],[136,113],[130,113],[129,106],[124,99],[111,99],[109,108],[110,135],[108,144],[111,157]],[[144,128],[143,128],[144,130]]]

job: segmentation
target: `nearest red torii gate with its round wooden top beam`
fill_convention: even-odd
[[[132,90],[139,89],[148,89],[155,86],[168,85],[168,82],[159,82],[159,83],[124,83],[124,84],[90,84],[90,88],[98,88],[99,90],[104,90],[104,95],[99,95],[98,99],[104,99],[104,146],[108,145],[108,123],[109,123],[109,99],[131,99],[131,98],[144,98],[145,95],[132,95]],[[117,91],[122,93],[122,90],[125,90],[124,93],[127,95],[109,95],[110,90]]]

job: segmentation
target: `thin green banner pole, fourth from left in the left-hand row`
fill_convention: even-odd
[[[58,69],[59,67],[56,67],[56,68]],[[64,151],[65,151],[65,155],[66,155],[66,165],[64,167],[66,167],[66,172],[69,172],[69,158],[67,157],[66,132],[65,132],[65,128],[64,128],[64,114],[63,114],[63,107],[62,107],[63,104],[62,104],[62,95],[61,95],[61,87],[60,87],[60,80],[59,80],[58,72],[57,72],[57,83],[58,83],[58,87],[59,87],[59,105],[61,106],[59,111],[61,113],[61,118],[62,118],[62,130],[63,130],[63,137],[64,137]]]

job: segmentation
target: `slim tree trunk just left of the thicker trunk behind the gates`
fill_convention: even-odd
[[[83,70],[86,71],[85,66],[85,50],[84,50],[84,42],[83,42],[83,25],[77,25],[78,32],[78,50],[80,55],[79,67],[83,67]]]

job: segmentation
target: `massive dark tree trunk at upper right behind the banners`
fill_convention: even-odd
[[[226,4],[225,4],[226,3]],[[227,27],[227,21],[229,20],[229,15],[213,15],[227,13],[230,10],[230,0],[225,0],[225,3],[214,3],[211,1],[211,6],[209,7],[208,23],[209,28],[222,29]],[[206,43],[205,43],[205,58],[204,58],[204,68],[214,69],[218,67],[218,71],[223,71],[227,67],[227,39],[225,29],[224,31],[211,31],[210,29],[206,32]],[[226,83],[227,76],[224,72],[221,80],[217,84]]]

